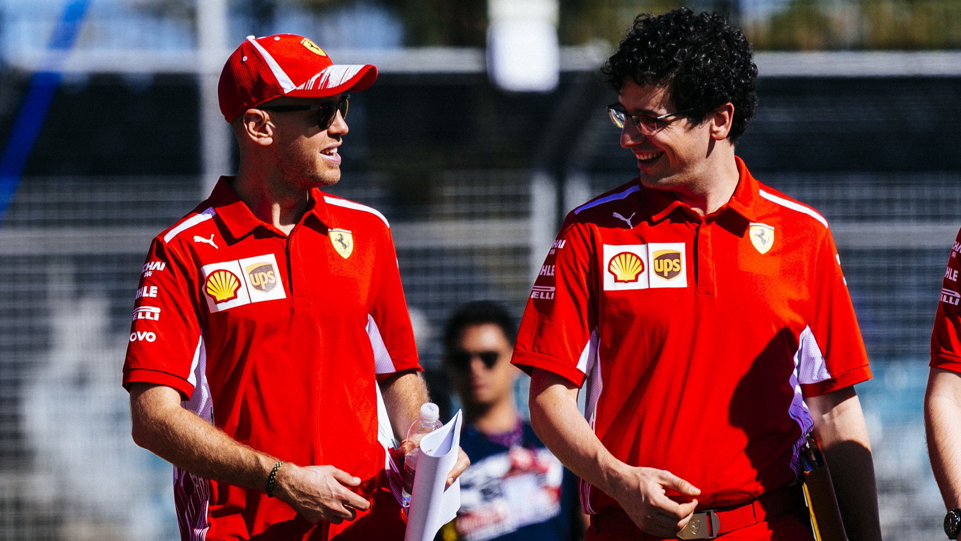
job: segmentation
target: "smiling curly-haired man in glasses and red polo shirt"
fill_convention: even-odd
[[[640,175],[568,214],[513,355],[587,539],[810,541],[809,433],[850,538],[880,539],[853,388],[871,371],[827,222],[734,155],[750,43],[717,13],[643,14],[603,72]]]

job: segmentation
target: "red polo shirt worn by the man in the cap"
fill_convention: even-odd
[[[376,380],[420,369],[397,256],[380,212],[320,190],[290,234],[221,178],[150,247],[123,370],[180,391],[237,441],[364,480],[383,468]],[[259,490],[178,470],[185,539],[317,539]],[[327,526],[322,526],[326,538]],[[336,528],[334,528],[336,529]]]

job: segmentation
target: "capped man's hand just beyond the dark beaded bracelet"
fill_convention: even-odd
[[[347,488],[359,484],[359,478],[333,466],[302,467],[286,462],[277,470],[274,492],[313,524],[340,524],[357,518],[355,509],[370,507],[369,502]]]

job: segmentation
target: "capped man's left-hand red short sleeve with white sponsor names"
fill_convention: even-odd
[[[183,258],[155,238],[136,289],[124,387],[158,383],[177,389],[184,400],[193,394],[195,369],[204,354],[195,289]]]

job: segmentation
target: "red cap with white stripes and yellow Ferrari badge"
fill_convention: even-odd
[[[335,64],[307,37],[248,36],[224,64],[217,97],[220,112],[231,122],[243,111],[280,96],[323,98],[363,90],[376,80],[376,66]]]

